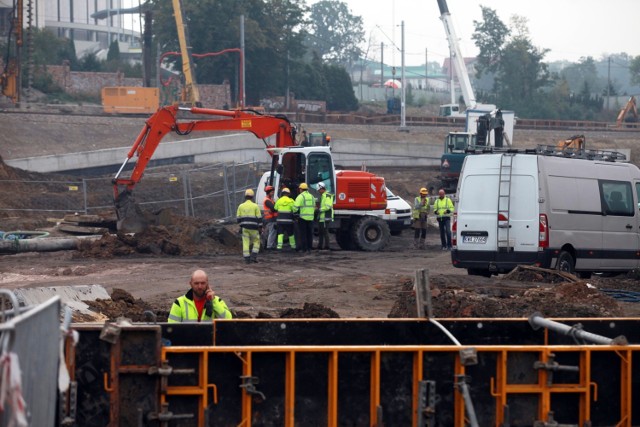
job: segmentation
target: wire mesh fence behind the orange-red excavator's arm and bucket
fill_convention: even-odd
[[[244,191],[255,189],[261,164],[218,163],[206,166],[173,165],[148,169],[133,191],[143,210],[171,208],[176,214],[199,218],[228,219],[244,201]],[[111,177],[77,181],[0,180],[6,200],[0,211],[31,214],[113,211]]]

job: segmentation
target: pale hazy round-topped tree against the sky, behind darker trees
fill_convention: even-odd
[[[309,29],[306,45],[324,61],[350,65],[362,55],[362,17],[352,15],[344,2],[321,0],[312,5]]]

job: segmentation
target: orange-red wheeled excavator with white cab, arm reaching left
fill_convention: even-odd
[[[189,114],[214,118],[184,118]],[[175,105],[160,108],[146,121],[113,179],[118,230],[139,232],[148,226],[132,191],[164,136],[169,132],[185,136],[201,131],[246,131],[262,139],[272,157],[267,185],[288,187],[295,195],[298,185],[305,182],[317,196],[317,186],[322,182],[335,195],[332,229],[340,247],[377,251],[389,242],[389,226],[381,219],[387,204],[384,178],[364,171],[336,171],[330,147],[298,145],[296,127],[283,115]],[[267,142],[272,136],[275,143]],[[134,156],[137,160],[130,177],[121,177]]]

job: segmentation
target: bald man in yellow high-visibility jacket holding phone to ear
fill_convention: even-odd
[[[209,286],[207,273],[196,270],[189,281],[191,289],[171,305],[169,323],[201,322],[211,319],[231,319],[227,304]]]

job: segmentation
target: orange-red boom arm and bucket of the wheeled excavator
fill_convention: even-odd
[[[180,120],[178,113],[185,112],[196,115],[214,116],[215,119]],[[284,116],[257,115],[242,110],[216,110],[200,107],[179,107],[176,105],[160,108],[145,123],[138,134],[133,147],[127,153],[127,158],[113,179],[114,200],[118,215],[118,228],[128,228],[131,231],[143,228],[140,223],[141,215],[135,208],[132,191],[140,182],[144,171],[153,157],[162,139],[169,133],[188,135],[192,132],[211,131],[245,131],[254,134],[264,141],[267,151],[273,155],[273,149],[295,146],[296,129]],[[266,138],[275,136],[275,144],[268,144]],[[137,157],[136,164],[129,178],[121,177],[125,166],[133,157]],[[124,190],[124,191],[121,191]],[[134,210],[135,209],[135,210]],[[138,218],[136,218],[138,217]],[[121,227],[123,221],[130,225]]]

